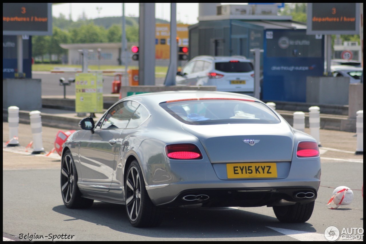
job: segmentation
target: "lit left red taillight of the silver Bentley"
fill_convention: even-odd
[[[165,147],[169,159],[202,159],[201,151],[194,144],[171,144]]]

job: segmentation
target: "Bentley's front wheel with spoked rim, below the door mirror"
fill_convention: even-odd
[[[61,161],[61,195],[67,208],[89,208],[94,200],[82,197],[78,188],[78,172],[70,150],[67,150]]]

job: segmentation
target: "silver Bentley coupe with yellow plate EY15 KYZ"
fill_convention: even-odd
[[[134,227],[158,226],[171,207],[269,206],[281,222],[313,212],[317,141],[251,96],[145,93],[79,125],[62,152],[68,208],[124,204]]]

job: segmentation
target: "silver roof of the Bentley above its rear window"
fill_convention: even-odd
[[[233,98],[233,99],[248,99],[260,101],[252,96],[243,95],[234,92],[216,92],[204,90],[178,90],[165,92],[151,92],[142,93],[125,97],[122,100],[136,100],[143,104],[159,104],[165,101],[179,100],[179,99],[199,99],[199,98]]]

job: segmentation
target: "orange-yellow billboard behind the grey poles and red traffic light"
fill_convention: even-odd
[[[180,47],[188,47],[188,26],[177,24],[177,43]],[[170,24],[156,24],[155,58],[170,58]]]

